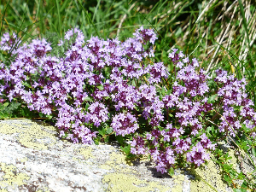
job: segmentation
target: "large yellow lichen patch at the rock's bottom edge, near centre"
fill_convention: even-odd
[[[113,172],[105,175],[103,183],[108,183],[108,191],[111,192],[137,192],[137,191],[168,191],[169,187],[165,187],[155,182],[147,182],[132,175]]]

